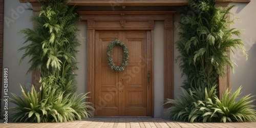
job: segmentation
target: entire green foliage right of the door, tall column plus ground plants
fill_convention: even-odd
[[[181,12],[179,28],[180,40],[176,42],[181,53],[180,68],[187,77],[181,88],[183,95],[178,100],[167,99],[174,104],[168,109],[169,118],[190,122],[243,122],[255,121],[256,111],[252,96],[245,96],[239,101],[239,88],[232,96],[228,90],[221,100],[216,96],[218,77],[225,72],[226,65],[233,69],[230,51],[241,49],[247,58],[240,36],[240,30],[229,29],[234,19],[230,10],[215,7],[216,0],[190,0]]]

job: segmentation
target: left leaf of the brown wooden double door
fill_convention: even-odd
[[[118,32],[96,33],[95,43],[95,114],[97,116],[118,116],[119,93],[118,93],[118,74],[113,72],[108,66],[106,51],[109,43],[118,38]],[[105,54],[104,54],[105,53]],[[118,61],[118,49],[112,50],[112,58]]]

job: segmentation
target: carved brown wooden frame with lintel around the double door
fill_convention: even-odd
[[[154,22],[164,22],[164,100],[173,99],[173,14],[175,11],[78,11],[80,20],[87,21],[87,92],[88,101],[95,96],[95,32],[97,30],[149,30],[152,57],[152,117],[154,117]],[[164,105],[169,108],[170,104]],[[94,116],[94,112],[93,112]]]

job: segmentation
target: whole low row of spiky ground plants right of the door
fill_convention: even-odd
[[[253,122],[256,121],[256,106],[250,105],[254,96],[246,95],[238,100],[241,87],[231,95],[226,90],[220,100],[216,95],[216,86],[205,91],[186,91],[178,100],[167,99],[166,103],[172,103],[168,109],[168,118],[186,122]],[[197,95],[204,94],[203,100]],[[251,100],[252,99],[252,100]],[[238,101],[236,101],[238,100]]]

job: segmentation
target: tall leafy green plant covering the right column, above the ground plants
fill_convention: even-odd
[[[240,30],[231,28],[234,19],[227,20],[232,14],[228,6],[225,10],[215,7],[216,0],[190,1],[188,7],[183,8],[179,22],[180,40],[176,42],[181,53],[180,68],[187,77],[185,88],[193,86],[210,86],[218,83],[218,76],[222,76],[228,64],[233,69],[229,57],[229,50],[240,48],[247,58],[240,36]]]

